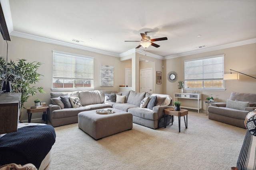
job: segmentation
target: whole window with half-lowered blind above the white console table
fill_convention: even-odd
[[[224,55],[187,60],[185,88],[223,89]]]

